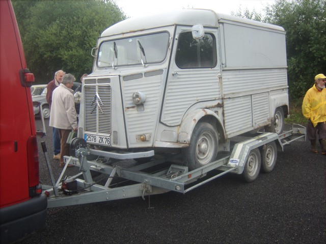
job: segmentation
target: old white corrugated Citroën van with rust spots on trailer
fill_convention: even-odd
[[[95,50],[95,52],[94,52]],[[83,81],[79,137],[105,150],[182,149],[190,169],[288,115],[282,27],[189,9],[107,28]]]

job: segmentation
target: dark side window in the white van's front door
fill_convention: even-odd
[[[180,33],[175,63],[181,69],[215,67],[217,62],[214,36],[205,34],[202,39],[196,40],[191,32]]]

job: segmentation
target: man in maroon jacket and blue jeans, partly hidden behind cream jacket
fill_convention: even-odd
[[[47,84],[47,92],[46,92],[46,101],[50,105],[52,104],[52,93],[53,90],[56,89],[62,80],[62,77],[64,76],[65,72],[62,70],[58,70],[55,74],[55,79],[51,80]],[[52,129],[53,132],[53,159],[59,159],[60,160],[60,137],[59,137],[59,132],[58,129],[53,127]]]

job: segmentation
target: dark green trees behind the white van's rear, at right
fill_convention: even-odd
[[[326,2],[277,0],[257,19],[255,12],[240,10],[237,16],[284,27],[286,31],[289,95],[303,97],[315,75],[326,72]]]

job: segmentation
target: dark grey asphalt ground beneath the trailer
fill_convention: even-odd
[[[39,141],[58,177],[47,132]],[[325,156],[292,142],[250,184],[227,174],[184,195],[151,196],[150,208],[148,197],[49,208],[47,228],[21,243],[326,243],[325,172]],[[41,150],[40,174],[49,185]]]

